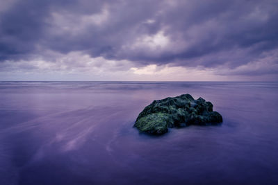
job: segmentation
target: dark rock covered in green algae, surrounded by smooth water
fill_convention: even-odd
[[[140,112],[134,127],[149,134],[165,134],[168,127],[188,125],[215,125],[222,123],[222,116],[213,112],[213,104],[203,98],[183,94],[174,98],[154,100]]]

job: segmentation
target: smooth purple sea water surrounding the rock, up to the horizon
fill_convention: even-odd
[[[154,99],[191,94],[220,126],[139,134]],[[0,82],[0,184],[277,184],[277,82]]]

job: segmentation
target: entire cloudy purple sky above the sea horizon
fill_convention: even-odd
[[[0,80],[278,81],[277,0],[0,0]]]

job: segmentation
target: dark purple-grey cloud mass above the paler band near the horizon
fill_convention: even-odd
[[[278,52],[277,18],[275,0],[13,1],[0,10],[0,60],[82,51],[138,66],[235,69]]]

